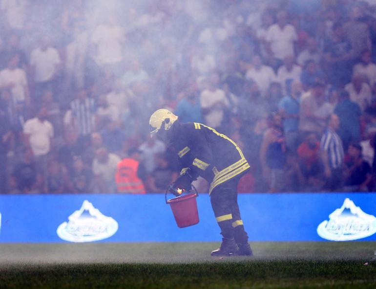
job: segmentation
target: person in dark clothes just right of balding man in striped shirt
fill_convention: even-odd
[[[348,155],[350,159],[345,163],[344,191],[368,191],[368,185],[372,180],[371,166],[362,158],[362,147],[356,142],[351,143],[349,145]]]

